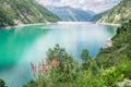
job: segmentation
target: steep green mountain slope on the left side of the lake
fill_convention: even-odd
[[[35,0],[0,0],[0,27],[13,24],[56,22],[58,20],[57,15]]]

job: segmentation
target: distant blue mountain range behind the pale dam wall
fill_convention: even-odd
[[[64,22],[86,22],[90,21],[94,13],[73,9],[70,7],[47,7],[49,11],[58,15]]]

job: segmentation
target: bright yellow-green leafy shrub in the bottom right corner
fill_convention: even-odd
[[[124,77],[131,79],[131,61],[127,58],[121,59],[115,66],[103,72],[102,77],[106,86],[116,87],[117,82],[123,80]]]

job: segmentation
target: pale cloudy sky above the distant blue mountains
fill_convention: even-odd
[[[80,8],[83,10],[91,10],[96,13],[111,9],[114,5],[118,4],[120,0],[37,0],[44,5],[53,7],[72,7]]]

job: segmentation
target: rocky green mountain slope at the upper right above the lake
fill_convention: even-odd
[[[118,5],[104,15],[98,22],[122,23],[131,18],[131,0],[122,0]]]

